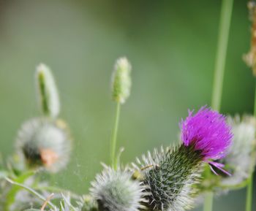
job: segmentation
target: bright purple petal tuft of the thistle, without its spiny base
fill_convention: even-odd
[[[225,116],[204,106],[195,115],[193,111],[189,111],[186,120],[181,120],[180,127],[184,145],[194,145],[195,150],[200,151],[204,161],[223,170],[223,166],[209,160],[224,158],[231,145],[233,135]]]

